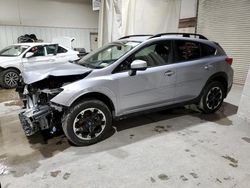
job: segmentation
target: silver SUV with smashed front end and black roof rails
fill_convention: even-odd
[[[126,36],[78,63],[23,72],[20,121],[27,136],[62,127],[70,142],[83,146],[104,139],[113,119],[131,114],[187,104],[213,113],[231,89],[231,64],[202,35]]]

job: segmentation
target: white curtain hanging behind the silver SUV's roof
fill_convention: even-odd
[[[133,34],[177,32],[181,0],[102,0],[99,43]]]

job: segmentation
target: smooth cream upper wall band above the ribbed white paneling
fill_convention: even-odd
[[[1,25],[97,28],[91,0],[0,0]]]

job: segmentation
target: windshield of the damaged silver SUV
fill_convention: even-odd
[[[105,68],[137,46],[139,42],[114,42],[83,57],[78,63],[93,69]]]

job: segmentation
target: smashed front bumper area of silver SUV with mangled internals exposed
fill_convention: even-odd
[[[50,102],[50,99],[61,91],[60,88],[44,89],[30,94],[27,86],[24,88],[22,99],[26,109],[19,114],[19,119],[26,136],[31,136],[40,130],[52,130],[58,122],[61,122],[62,107],[52,105]]]

